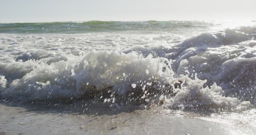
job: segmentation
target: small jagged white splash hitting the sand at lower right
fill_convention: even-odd
[[[172,109],[185,109],[191,111],[242,111],[251,107],[249,101],[240,101],[234,97],[222,95],[222,88],[216,83],[210,87],[203,87],[206,80],[197,77],[190,79],[182,77],[187,84],[171,99]]]

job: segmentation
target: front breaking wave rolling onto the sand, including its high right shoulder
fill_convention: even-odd
[[[126,101],[165,99],[173,109],[244,110],[256,105],[255,40],[256,28],[248,26],[170,46],[134,45],[83,55],[20,50],[14,59],[0,62],[0,96],[64,100],[98,91],[104,102],[121,96]]]

